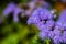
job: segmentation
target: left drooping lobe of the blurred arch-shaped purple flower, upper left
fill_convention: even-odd
[[[9,13],[13,12],[15,9],[15,4],[10,2],[8,7],[3,10],[3,15],[8,15]]]

